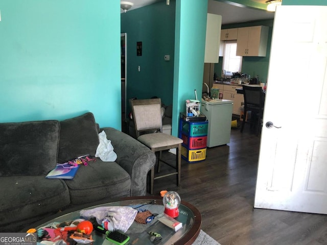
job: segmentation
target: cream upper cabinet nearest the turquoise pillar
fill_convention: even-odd
[[[204,63],[219,62],[221,15],[207,14]]]

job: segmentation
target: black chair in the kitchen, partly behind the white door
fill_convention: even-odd
[[[244,94],[244,118],[241,126],[241,133],[243,132],[244,125],[249,122],[252,126],[257,123],[258,131],[256,135],[259,135],[259,131],[262,126],[262,117],[264,113],[265,92],[260,86],[247,86],[243,85]],[[251,111],[251,119],[246,121],[247,112]],[[258,121],[256,121],[258,120]]]

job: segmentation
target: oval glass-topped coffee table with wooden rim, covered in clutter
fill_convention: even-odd
[[[155,201],[155,204],[153,204]],[[140,205],[143,209],[149,210],[152,213],[158,213],[159,215],[164,212],[164,205],[162,204],[162,198],[160,197],[128,197],[121,198],[119,200],[114,200],[109,203],[104,203],[96,206],[91,206],[87,208],[82,208],[76,211],[65,213],[61,216],[54,217],[52,219],[44,221],[35,225],[35,229],[45,227],[52,223],[62,223],[65,221],[75,220],[81,218],[80,211],[86,209],[92,209],[96,207],[107,207],[107,206],[131,206],[138,207]],[[57,214],[58,215],[58,214]],[[174,244],[174,245],[191,245],[197,238],[200,232],[201,226],[201,214],[193,205],[188,202],[181,201],[179,206],[179,215],[175,218],[177,221],[181,222],[182,228],[178,231],[174,231],[168,226],[159,222],[155,217],[148,224],[139,224],[135,221],[130,226],[126,234],[130,237],[126,245],[153,245],[153,244]],[[151,235],[148,234],[149,231],[153,231],[161,234],[162,240],[158,243],[153,243],[150,240]],[[105,235],[99,233],[98,231],[92,232],[92,243],[94,245],[110,245],[113,244],[107,239]]]

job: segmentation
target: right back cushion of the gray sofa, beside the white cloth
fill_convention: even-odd
[[[59,163],[83,155],[95,156],[98,145],[98,129],[91,112],[60,121]]]

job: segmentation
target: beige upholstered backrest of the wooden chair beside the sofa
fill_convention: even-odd
[[[161,99],[129,100],[136,138],[140,132],[156,131],[162,133]]]

